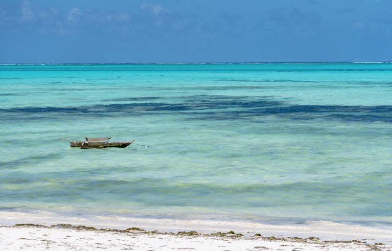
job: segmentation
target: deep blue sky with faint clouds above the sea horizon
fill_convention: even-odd
[[[392,0],[0,0],[0,63],[392,61]]]

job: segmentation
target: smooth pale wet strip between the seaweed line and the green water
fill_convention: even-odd
[[[50,226],[83,226],[83,228],[116,229],[123,231],[127,228],[142,228],[146,231],[166,232],[198,232],[213,234],[216,232],[240,233],[252,237],[258,233],[262,236],[275,238],[315,237],[321,241],[351,241],[359,240],[374,243],[391,243],[392,229],[347,225],[328,221],[309,221],[305,224],[272,225],[245,221],[217,220],[179,220],[131,218],[121,216],[64,216],[53,212],[39,211],[34,213],[0,211],[0,226],[12,227],[16,224],[38,224],[45,228]],[[73,228],[73,227],[72,227]]]

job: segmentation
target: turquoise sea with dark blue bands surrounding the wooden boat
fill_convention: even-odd
[[[391,112],[390,63],[1,65],[0,207],[388,225]]]

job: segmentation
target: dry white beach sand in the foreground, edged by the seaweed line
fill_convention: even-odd
[[[147,232],[140,228],[126,230],[96,229],[84,226],[21,224],[0,227],[0,249],[7,251],[390,251],[383,243],[369,244],[360,240],[321,241],[316,237],[245,237],[232,231],[202,234],[195,231],[178,233]]]

